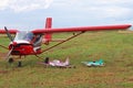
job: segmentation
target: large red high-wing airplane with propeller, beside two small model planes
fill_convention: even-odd
[[[9,47],[6,47],[3,45],[0,45],[0,46],[9,50],[7,58],[9,61],[11,61],[9,58],[10,55],[18,55],[18,56],[20,56],[20,58],[21,58],[21,56],[25,56],[25,55],[38,56],[38,54],[47,52],[47,51],[51,50],[52,47],[58,46],[80,34],[86,32],[86,31],[126,30],[130,26],[131,26],[130,24],[122,24],[122,25],[52,29],[52,18],[47,18],[44,29],[37,29],[33,31],[18,31],[18,30],[8,30],[4,26],[4,30],[0,30],[0,33],[7,34],[11,42],[9,44]],[[78,32],[78,34],[74,34],[71,37],[63,40],[49,48],[41,50],[42,42],[45,44],[49,44],[49,42],[53,41],[52,36],[51,36],[52,33],[62,33],[62,32]],[[11,36],[11,34],[16,34],[14,38]]]

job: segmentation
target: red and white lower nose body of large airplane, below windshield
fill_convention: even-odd
[[[11,55],[34,55],[34,54],[41,54],[41,47],[40,46],[33,46],[30,42],[27,41],[14,41],[13,43],[10,43],[9,50],[11,50],[13,46],[13,50],[11,52]]]

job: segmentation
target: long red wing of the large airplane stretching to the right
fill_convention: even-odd
[[[85,32],[85,31],[114,31],[114,30],[126,30],[131,25],[122,24],[122,25],[104,25],[104,26],[82,26],[82,28],[64,28],[64,29],[37,29],[33,30],[34,34],[43,34],[43,33],[62,33],[62,32]]]

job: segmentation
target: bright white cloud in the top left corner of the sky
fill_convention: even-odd
[[[52,0],[0,0],[0,10],[11,9],[14,12],[47,9]]]

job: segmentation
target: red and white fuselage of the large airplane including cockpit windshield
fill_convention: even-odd
[[[32,32],[18,32],[13,42],[9,44],[11,55],[37,55],[41,54],[41,36]]]

